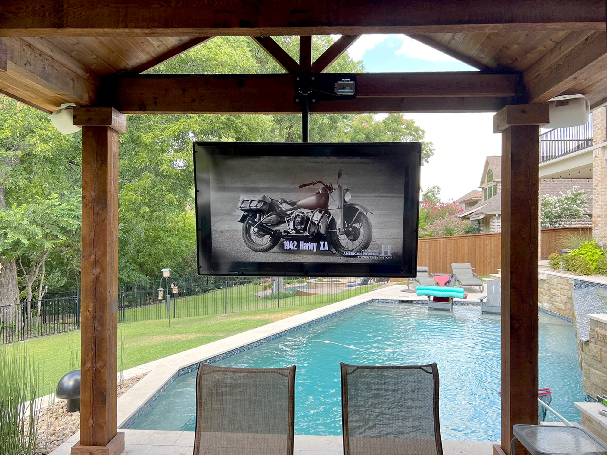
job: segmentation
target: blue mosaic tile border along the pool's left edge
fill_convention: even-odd
[[[399,303],[399,300],[389,300],[389,299],[381,299],[381,298],[373,298],[371,300],[365,300],[365,302],[361,302],[358,303],[356,305],[352,305],[348,308],[344,308],[341,309],[339,311],[333,312],[331,314],[325,314],[324,316],[321,316],[319,318],[313,319],[311,321],[305,322],[303,324],[291,327],[289,329],[283,330],[281,332],[277,332],[275,334],[269,335],[265,338],[262,338],[260,340],[251,342],[251,343],[247,343],[246,345],[243,346],[239,346],[236,349],[231,349],[229,351],[226,352],[222,352],[222,354],[218,354],[217,356],[212,356],[212,357],[208,357],[208,359],[203,359],[200,362],[195,362],[192,363],[191,365],[188,366],[184,366],[183,368],[180,368],[173,376],[171,376],[162,386],[161,388],[159,388],[154,395],[152,395],[151,397],[149,397],[149,399],[143,403],[143,405],[141,405],[137,411],[135,411],[135,414],[133,414],[131,417],[129,417],[126,422],[124,422],[124,424],[120,427],[121,430],[128,430],[129,428],[131,428],[131,425],[133,425],[133,423],[135,422],[135,420],[137,420],[139,417],[141,417],[141,414],[143,414],[145,411],[147,411],[150,406],[152,406],[152,404],[154,404],[154,402],[156,401],[156,399],[160,396],[160,394],[162,394],[168,387],[169,385],[171,385],[175,379],[177,379],[180,376],[183,376],[184,374],[188,374],[191,373],[193,371],[197,371],[198,370],[198,365],[201,362],[204,363],[208,363],[209,365],[215,362],[219,362],[220,360],[224,360],[224,359],[228,359],[228,357],[232,357],[232,356],[236,356],[237,354],[241,354],[242,352],[248,351],[249,349],[253,349],[256,348],[257,346],[261,346],[265,343],[271,342],[273,340],[279,339],[284,337],[285,335],[289,335],[293,332],[297,332],[301,329],[305,329],[308,328],[310,326],[316,325],[319,322],[323,322],[327,319],[330,319],[332,317],[338,316],[340,314],[344,314],[345,312],[351,311],[354,308],[361,308],[361,306],[363,305],[367,305],[368,303]]]

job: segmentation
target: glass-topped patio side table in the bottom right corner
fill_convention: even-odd
[[[512,433],[510,455],[517,439],[531,455],[607,452],[607,445],[580,426],[514,425]]]

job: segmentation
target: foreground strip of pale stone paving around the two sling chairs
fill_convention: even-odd
[[[126,440],[123,455],[186,455],[194,450],[194,431],[120,430]],[[55,450],[52,455],[70,455],[78,442],[78,433]],[[443,441],[444,455],[490,455],[493,444],[481,441]],[[295,435],[293,455],[342,455],[339,436]]]

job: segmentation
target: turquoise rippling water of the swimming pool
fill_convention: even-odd
[[[540,387],[552,407],[578,422],[582,373],[571,322],[540,313]],[[421,365],[436,362],[443,439],[500,440],[500,315],[479,306],[453,312],[425,305],[369,303],[214,365],[297,365],[296,434],[341,436],[339,363]],[[130,428],[195,426],[195,372],[178,377]],[[546,420],[556,420],[548,414]]]

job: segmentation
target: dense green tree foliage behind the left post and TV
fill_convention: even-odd
[[[298,59],[299,38],[274,39]],[[330,36],[314,36],[313,59],[332,42]],[[330,68],[331,72],[344,73],[362,70],[362,62],[347,53]],[[253,39],[242,37],[213,38],[149,71],[283,72]],[[15,223],[27,219],[26,224],[11,224],[2,230],[0,257],[27,257],[20,268],[20,279],[27,280],[31,277],[28,270],[36,268],[36,258],[45,255],[45,279],[53,290],[78,288],[81,134],[60,135],[48,115],[0,97],[0,189],[5,190],[7,202],[7,208],[0,210],[6,220]],[[129,115],[128,131],[120,135],[120,282],[157,278],[164,267],[175,274],[196,273],[192,141],[283,142],[301,138],[300,115]],[[383,118],[370,114],[311,115],[310,140],[420,141],[426,163],[433,153],[432,143],[424,141],[424,130],[396,114]],[[36,211],[40,217],[34,219]],[[49,215],[47,220],[43,214]],[[67,220],[73,224],[62,224]],[[43,241],[44,232],[55,237]],[[40,275],[36,279],[34,287],[42,284]],[[35,289],[32,294],[36,294]]]

